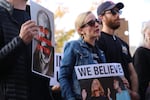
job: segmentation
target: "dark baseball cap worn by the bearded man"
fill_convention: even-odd
[[[114,3],[112,1],[106,1],[100,4],[97,8],[97,15],[102,15],[105,11],[118,8],[119,10],[124,7],[124,4],[122,2]]]

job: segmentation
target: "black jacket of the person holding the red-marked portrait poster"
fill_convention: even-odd
[[[0,0],[0,100],[51,100],[49,79],[31,72],[31,44],[19,38],[13,7]]]

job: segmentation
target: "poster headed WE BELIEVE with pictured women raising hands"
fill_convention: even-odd
[[[75,72],[83,100],[131,100],[120,63],[75,66]]]

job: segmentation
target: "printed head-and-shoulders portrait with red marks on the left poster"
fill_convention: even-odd
[[[54,70],[54,47],[52,46],[52,31],[50,19],[44,10],[37,13],[39,35],[36,37],[33,70],[39,74],[52,76]]]

